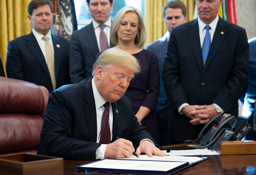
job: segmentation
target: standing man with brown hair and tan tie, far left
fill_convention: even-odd
[[[32,32],[8,43],[6,60],[7,77],[42,85],[50,93],[70,84],[70,39],[51,34],[52,10],[49,0],[30,2],[28,19],[33,26]],[[47,55],[49,51],[51,57]]]

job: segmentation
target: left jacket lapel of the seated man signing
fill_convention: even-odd
[[[92,78],[86,81],[85,84],[85,101],[84,112],[90,134],[90,142],[97,142],[97,114],[92,90]]]

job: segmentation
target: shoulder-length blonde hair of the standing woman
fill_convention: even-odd
[[[124,14],[126,14],[127,12],[134,12],[138,16],[139,31],[134,39],[134,44],[137,47],[143,47],[143,45],[146,42],[146,38],[147,38],[146,29],[145,29],[140,11],[131,6],[123,7],[116,13],[116,16],[114,17],[114,20],[112,21],[112,25],[110,27],[110,41],[113,44],[118,44],[118,36],[117,36],[116,30],[120,26],[120,23],[121,23],[122,18],[124,17]]]

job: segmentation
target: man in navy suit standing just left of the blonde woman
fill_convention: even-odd
[[[84,28],[74,31],[70,43],[70,81],[78,83],[92,77],[92,66],[96,55],[114,45],[110,42],[110,11],[113,0],[87,0],[92,22]],[[101,26],[104,25],[103,30]],[[107,41],[107,47],[100,40]]]

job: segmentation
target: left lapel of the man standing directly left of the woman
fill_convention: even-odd
[[[94,57],[96,57],[96,55],[100,52],[100,50],[98,47],[98,43],[97,43],[94,28],[92,26],[92,22],[88,25],[88,28],[86,28],[85,32],[86,32],[85,34],[88,39],[88,43],[90,45],[92,53],[93,53]]]

